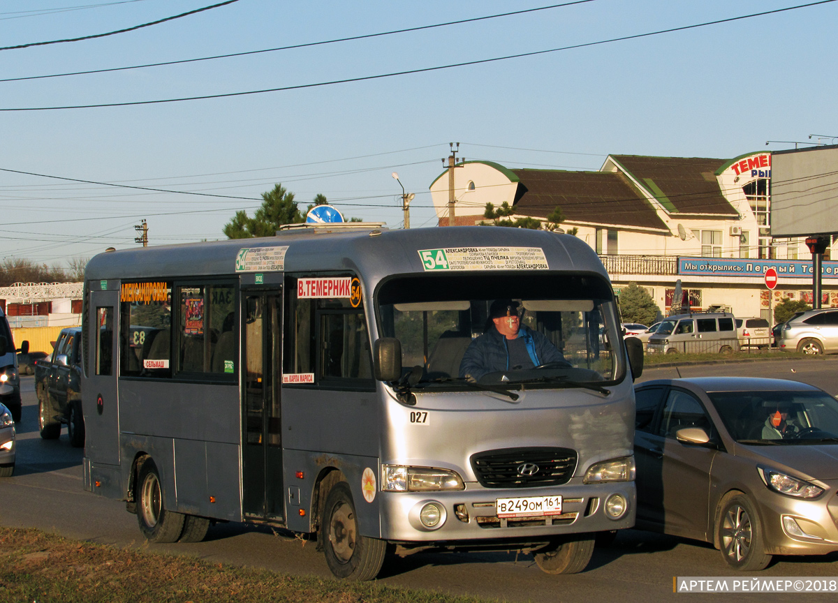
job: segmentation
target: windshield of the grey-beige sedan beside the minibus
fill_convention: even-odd
[[[838,443],[838,401],[811,391],[708,394],[731,437],[752,444]]]

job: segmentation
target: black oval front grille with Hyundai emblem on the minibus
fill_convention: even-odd
[[[577,452],[570,448],[503,448],[471,457],[483,487],[558,486],[573,477]]]

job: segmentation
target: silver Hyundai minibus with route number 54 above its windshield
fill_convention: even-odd
[[[463,374],[499,299],[551,360]],[[85,488],[151,542],[258,522],[340,578],[426,549],[561,574],[634,524],[642,347],[574,236],[327,224],[109,250],[83,328]]]

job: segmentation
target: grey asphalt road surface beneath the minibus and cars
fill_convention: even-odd
[[[817,384],[838,394],[838,358],[728,363],[679,367],[682,376],[782,376]],[[677,377],[675,368],[649,368],[640,380]],[[62,535],[118,547],[194,555],[209,562],[266,568],[299,575],[330,574],[313,543],[264,526],[238,523],[216,525],[198,544],[147,544],[137,518],[123,502],[85,492],[81,449],[70,447],[66,432],[58,441],[41,440],[33,379],[23,378],[23,421],[18,425],[18,466],[15,475],[0,481],[0,524],[35,527]],[[838,576],[838,554],[826,557],[775,559],[762,577]],[[736,576],[711,546],[688,540],[629,530],[608,548],[597,549],[592,563],[578,575],[541,572],[529,555],[414,554],[385,564],[385,585],[437,590],[499,600],[670,600],[674,576]],[[753,577],[752,575],[747,575]],[[693,595],[719,599],[720,595]],[[723,600],[754,600],[766,595],[721,595]],[[794,595],[791,595],[794,596]],[[834,600],[807,595],[806,600]],[[769,600],[770,597],[768,597]]]

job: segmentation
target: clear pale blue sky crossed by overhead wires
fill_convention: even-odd
[[[215,0],[219,2],[220,0]],[[0,0],[0,46],[149,23],[213,0]],[[128,33],[0,51],[0,79],[271,49],[556,2],[277,2],[230,5]],[[0,109],[157,101],[418,70],[586,44],[791,7],[803,0],[594,0],[312,48],[95,75],[0,82]],[[79,8],[55,11],[60,8]],[[428,187],[448,142],[510,168],[599,168],[608,153],[736,157],[838,136],[838,3],[586,48],[377,80],[229,98],[0,111],[0,257],[61,265],[108,246],[224,238],[282,183],[344,215],[432,226]],[[836,142],[831,140],[828,142]],[[80,220],[81,219],[81,220]],[[78,221],[74,221],[78,220]]]

